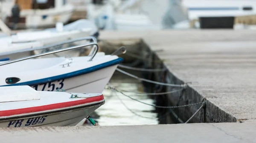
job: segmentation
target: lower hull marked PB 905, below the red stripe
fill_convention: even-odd
[[[75,126],[104,103],[105,100],[95,105],[89,105],[79,109],[2,120],[0,121],[0,127],[17,128],[33,126]]]

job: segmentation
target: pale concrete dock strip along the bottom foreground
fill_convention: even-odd
[[[256,122],[0,128],[1,143],[256,143]]]

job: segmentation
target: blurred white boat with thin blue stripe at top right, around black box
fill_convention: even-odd
[[[253,28],[255,0],[183,0],[195,28]]]

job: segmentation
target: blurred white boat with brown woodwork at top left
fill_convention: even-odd
[[[1,12],[6,17],[5,23],[10,27],[13,24],[11,9],[14,1],[5,1],[1,6]],[[52,27],[56,22],[67,23],[75,10],[65,0],[17,0],[17,3],[21,9],[20,28],[44,28]]]

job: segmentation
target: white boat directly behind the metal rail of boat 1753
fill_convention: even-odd
[[[33,32],[20,32],[11,37],[0,38],[0,43],[3,44],[0,50],[0,59],[9,58],[10,60],[22,58],[24,56],[31,56],[34,54],[42,53],[44,50],[32,50],[32,48],[41,47],[53,43],[63,42],[69,39],[77,39],[81,37],[90,36],[90,28],[84,28],[81,30],[52,32],[52,31],[33,31]],[[25,41],[25,42],[23,42]],[[32,41],[32,42],[29,42]],[[21,43],[23,42],[23,43]],[[84,42],[84,41],[83,41]],[[67,48],[69,45],[58,46],[58,48],[50,48],[49,50],[56,50],[60,48]],[[17,51],[22,54],[13,52]],[[79,56],[81,48],[76,50],[69,50],[60,53],[55,53],[57,56]],[[55,55],[47,55],[47,57],[56,57]]]

